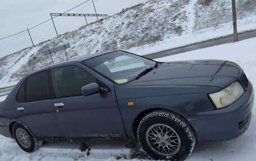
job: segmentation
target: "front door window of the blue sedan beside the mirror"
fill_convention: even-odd
[[[57,98],[82,95],[83,86],[96,82],[94,76],[76,66],[55,68],[51,72]]]

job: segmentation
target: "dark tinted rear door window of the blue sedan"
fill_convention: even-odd
[[[26,102],[48,99],[47,72],[36,73],[26,81]]]

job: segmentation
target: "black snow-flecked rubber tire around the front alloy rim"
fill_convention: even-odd
[[[148,137],[148,129],[154,125],[166,125],[166,127],[176,131],[180,139],[180,148],[177,149],[179,151],[173,155],[161,155],[156,153],[156,150],[152,150],[146,137]],[[141,119],[138,125],[137,137],[145,152],[156,160],[185,160],[192,153],[195,146],[195,135],[190,125],[177,114],[166,111],[152,112]]]

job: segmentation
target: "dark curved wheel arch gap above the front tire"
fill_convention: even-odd
[[[195,136],[195,140],[197,140],[196,132],[195,132],[193,126],[191,126],[191,124],[189,123],[189,121],[184,116],[182,116],[181,114],[179,114],[177,112],[174,112],[174,111],[171,111],[170,109],[166,109],[166,108],[150,108],[150,109],[147,109],[145,111],[140,112],[135,117],[134,121],[132,122],[132,134],[134,135],[135,139],[137,139],[137,137],[136,137],[137,136],[137,130],[138,130],[138,126],[139,126],[139,123],[140,123],[141,119],[143,119],[147,114],[149,114],[151,112],[154,112],[154,111],[166,111],[166,112],[174,113],[177,116],[179,116],[180,118],[184,119],[184,121],[186,123],[188,123],[188,125],[192,129],[192,131],[194,133],[194,136]]]

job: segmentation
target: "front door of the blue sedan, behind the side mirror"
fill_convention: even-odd
[[[56,96],[51,104],[57,110],[56,119],[63,137],[125,136],[113,84],[107,86],[95,77],[97,73],[81,63],[53,66],[50,71]],[[92,82],[108,92],[84,96],[81,88]]]

